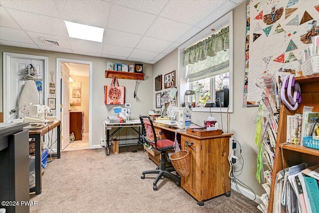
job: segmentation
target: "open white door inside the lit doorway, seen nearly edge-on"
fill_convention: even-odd
[[[70,70],[64,64],[61,63],[61,123],[63,126],[63,134],[62,134],[62,150],[65,149],[67,145],[70,143],[70,99],[69,99],[69,77]]]

